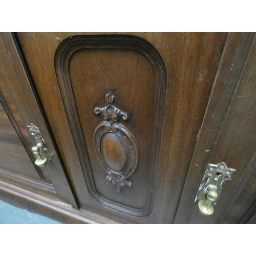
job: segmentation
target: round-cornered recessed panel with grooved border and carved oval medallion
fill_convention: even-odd
[[[91,197],[150,214],[166,93],[160,54],[136,36],[73,36],[56,51],[55,72]]]

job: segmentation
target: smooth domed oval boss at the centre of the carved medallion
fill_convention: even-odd
[[[122,139],[113,133],[106,133],[101,139],[101,152],[105,163],[114,172],[121,172],[127,164],[127,148]]]

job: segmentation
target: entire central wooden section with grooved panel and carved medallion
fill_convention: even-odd
[[[80,211],[173,223],[227,33],[15,35]]]

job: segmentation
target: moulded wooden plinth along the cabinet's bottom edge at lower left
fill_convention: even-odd
[[[88,210],[74,209],[70,204],[60,200],[53,188],[20,177],[4,176],[0,170],[1,200],[18,207],[26,208],[61,223],[116,223],[112,219],[97,215]],[[17,180],[19,183],[17,183]]]

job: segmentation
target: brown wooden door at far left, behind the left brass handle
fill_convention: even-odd
[[[39,201],[47,204],[47,200],[52,200],[57,205],[66,203],[77,208],[69,178],[13,34],[1,33],[0,49],[1,195],[12,190],[14,195],[26,200],[30,193],[34,204]],[[34,164],[36,158],[31,148],[35,140],[27,127],[31,123],[39,127],[52,157],[44,168]]]

